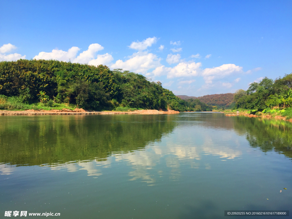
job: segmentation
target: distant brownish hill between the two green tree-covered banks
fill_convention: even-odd
[[[202,97],[192,97],[187,95],[176,96],[183,100],[199,99],[201,102],[212,106],[230,107],[233,103],[234,93],[211,94]]]

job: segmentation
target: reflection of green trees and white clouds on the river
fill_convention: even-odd
[[[198,113],[0,119],[1,175],[12,174],[15,166],[39,165],[96,178],[103,168],[126,162],[129,180],[155,185],[164,175],[161,165],[170,169],[169,180],[176,180],[182,165],[212,169],[204,160],[210,155],[221,161],[240,158],[237,136],[263,152],[292,157],[292,124],[275,119]]]

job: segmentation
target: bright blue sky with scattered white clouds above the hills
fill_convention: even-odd
[[[105,64],[177,95],[292,72],[292,1],[1,1],[0,60]]]

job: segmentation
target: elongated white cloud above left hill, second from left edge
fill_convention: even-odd
[[[53,49],[52,52],[46,53],[46,52],[40,52],[39,55],[34,56],[34,59],[55,59],[59,61],[66,61],[68,62],[69,59],[75,59],[76,55],[80,49],[77,46],[73,46],[68,49],[68,51],[62,51],[58,49]]]

